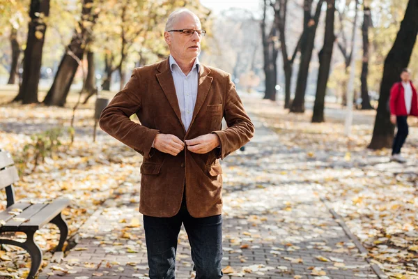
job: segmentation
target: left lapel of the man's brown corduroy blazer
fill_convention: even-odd
[[[158,73],[156,76],[157,76],[158,82],[160,83],[162,91],[164,91],[164,94],[167,97],[167,100],[169,100],[171,107],[176,113],[178,121],[180,121],[180,124],[186,133],[186,129],[185,129],[185,126],[183,125],[183,121],[181,121],[180,107],[178,105],[176,87],[174,86],[173,75],[171,75],[169,59],[162,61],[162,63],[160,63],[160,65],[157,67],[157,70],[160,71],[160,73]]]

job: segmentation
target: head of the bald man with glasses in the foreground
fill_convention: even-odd
[[[201,23],[197,17],[189,13],[178,15],[173,24],[173,30],[194,29],[201,30]],[[165,32],[164,38],[169,45],[171,55],[177,59],[194,59],[200,54],[201,36],[194,32],[192,35],[185,35],[181,32]]]

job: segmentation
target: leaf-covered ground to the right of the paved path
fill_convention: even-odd
[[[288,114],[281,107],[254,97],[247,102],[247,110],[279,135],[278,144],[301,152],[300,165],[284,164],[283,175],[316,185],[387,275],[418,278],[417,119],[408,119],[410,133],[402,149],[408,163],[399,164],[389,162],[390,149],[366,148],[374,111],[356,111],[353,133],[346,137],[345,109],[338,105],[328,106],[326,123],[310,123],[309,110]]]

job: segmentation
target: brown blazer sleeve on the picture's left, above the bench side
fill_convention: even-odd
[[[123,144],[150,158],[150,150],[159,130],[150,129],[130,120],[130,116],[141,110],[142,91],[138,69],[134,69],[129,82],[119,91],[100,114],[102,130]],[[152,154],[151,154],[152,156]]]

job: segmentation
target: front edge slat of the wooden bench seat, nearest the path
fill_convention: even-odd
[[[55,199],[54,202],[47,204],[43,209],[38,211],[34,216],[31,217],[26,223],[22,223],[20,228],[24,229],[39,229],[43,225],[49,223],[55,216],[59,215],[65,207],[70,204],[70,199],[61,198]]]

